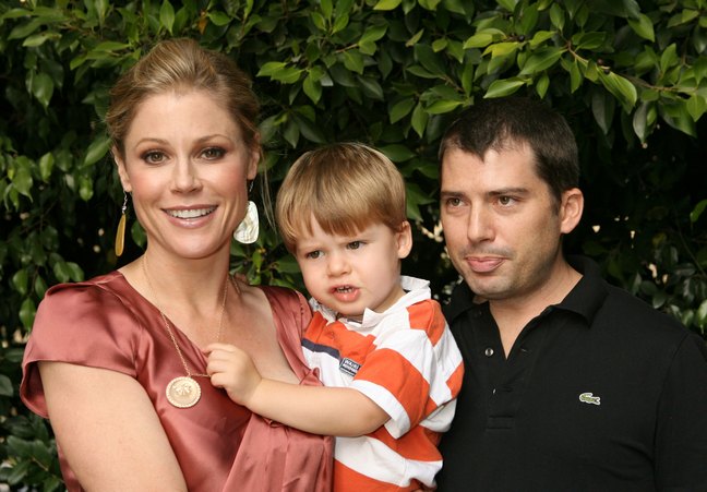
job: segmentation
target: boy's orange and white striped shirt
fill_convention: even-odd
[[[406,295],[383,313],[367,310],[361,322],[337,320],[310,300],[314,317],[302,339],[310,367],[325,386],[358,389],[391,417],[370,434],[336,437],[336,492],[434,487],[436,445],[452,423],[464,365],[429,284],[402,276]]]

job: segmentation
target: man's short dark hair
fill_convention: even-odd
[[[482,99],[465,109],[440,145],[440,164],[451,148],[483,158],[526,144],[537,172],[558,200],[579,182],[577,143],[565,119],[544,104],[524,97]]]

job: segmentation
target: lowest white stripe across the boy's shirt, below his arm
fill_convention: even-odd
[[[382,442],[367,436],[336,437],[336,459],[347,467],[382,482],[407,487],[417,479],[427,487],[434,485],[434,476],[442,461],[405,459]]]

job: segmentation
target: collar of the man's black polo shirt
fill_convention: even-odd
[[[599,265],[592,260],[580,255],[568,255],[567,263],[582,274],[577,285],[570,291],[556,309],[572,311],[585,319],[587,326],[591,326],[597,311],[601,308],[609,295],[607,284],[601,278]],[[454,319],[474,308],[475,293],[466,281],[462,280],[452,291],[450,303],[444,307],[444,315],[450,325]]]

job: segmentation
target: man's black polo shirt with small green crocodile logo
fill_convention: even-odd
[[[707,353],[675,320],[583,278],[506,359],[489,304],[457,286],[445,315],[464,355],[441,491],[707,491]]]

